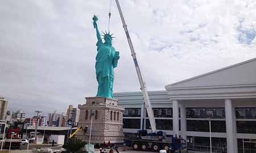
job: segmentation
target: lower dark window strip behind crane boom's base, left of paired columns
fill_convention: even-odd
[[[156,129],[158,130],[172,130],[172,120],[156,119],[155,124],[156,124]],[[148,119],[146,120],[146,129],[151,129],[150,121]]]

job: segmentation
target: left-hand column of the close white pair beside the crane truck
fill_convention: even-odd
[[[172,100],[172,126],[174,128],[174,137],[179,137],[179,101]]]

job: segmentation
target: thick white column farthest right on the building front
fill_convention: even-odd
[[[237,131],[234,131],[234,108],[232,101],[225,99],[225,115],[226,115],[226,143],[228,153],[237,153]]]

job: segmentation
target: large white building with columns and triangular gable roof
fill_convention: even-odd
[[[188,148],[256,152],[256,58],[149,92],[156,129],[187,139]],[[141,92],[115,93],[126,137],[150,130]],[[146,116],[146,121],[143,121]],[[210,124],[210,128],[209,128]]]

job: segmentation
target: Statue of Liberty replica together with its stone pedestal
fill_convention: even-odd
[[[123,107],[113,97],[114,68],[117,67],[119,52],[112,46],[112,35],[106,32],[102,42],[98,31],[97,16],[93,16],[93,26],[97,35],[96,76],[98,92],[95,97],[85,97],[86,103],[79,105],[78,125],[88,127],[89,135],[77,133],[76,137],[90,144],[123,143]]]

